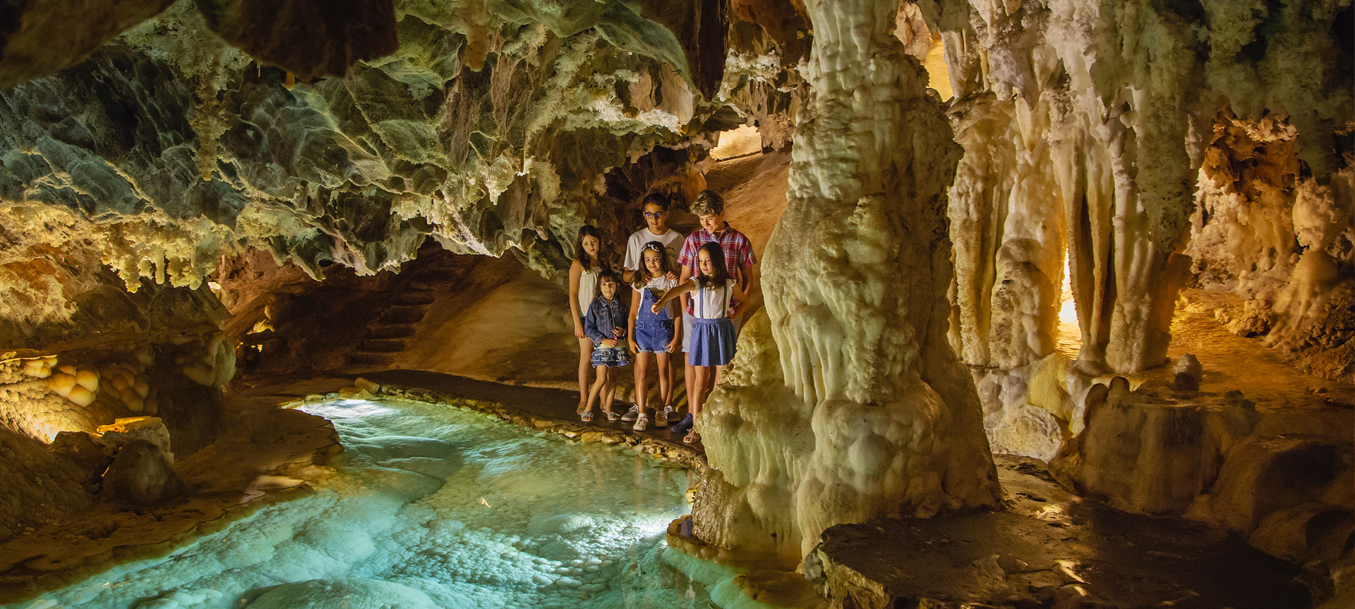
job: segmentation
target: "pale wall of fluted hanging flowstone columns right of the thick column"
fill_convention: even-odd
[[[1206,4],[924,3],[947,41],[951,122],[966,149],[950,217],[954,341],[970,365],[1016,368],[1051,353],[1065,250],[1083,368],[1161,364],[1188,256],[1215,267],[1226,256],[1188,245],[1196,191],[1209,188],[1201,171],[1217,173],[1202,169],[1206,152],[1232,112],[1293,126],[1290,173],[1305,168],[1298,189],[1322,199],[1322,210],[1350,208],[1336,146],[1355,119],[1351,41],[1341,34],[1350,3]],[[1340,214],[1317,215],[1318,233],[1346,227]],[[1295,246],[1310,245],[1279,252],[1287,258]],[[1249,263],[1229,261],[1229,273],[1247,273]],[[1331,275],[1348,263],[1310,264]],[[1270,268],[1282,272],[1262,272]]]

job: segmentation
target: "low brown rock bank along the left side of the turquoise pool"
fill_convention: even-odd
[[[152,441],[130,440],[104,475],[106,501],[70,484],[87,509],[51,514],[0,543],[0,604],[165,556],[264,505],[304,497],[333,475],[328,463],[341,451],[328,421],[295,410],[237,414],[217,443],[172,466]],[[53,459],[77,478],[68,455]]]

